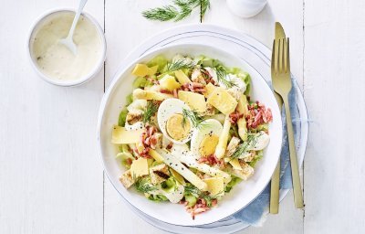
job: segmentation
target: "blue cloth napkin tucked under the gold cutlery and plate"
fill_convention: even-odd
[[[292,80],[293,89],[289,93],[289,102],[290,102],[290,113],[293,122],[294,136],[296,146],[299,145],[299,135],[300,135],[300,116],[297,110],[297,89],[295,81]],[[269,84],[271,87],[271,83]],[[284,106],[283,106],[284,107]],[[290,169],[290,161],[289,161],[289,145],[287,142],[287,122],[286,116],[284,112],[284,108],[282,110],[282,121],[284,123],[283,126],[283,145],[282,151],[280,155],[280,189],[287,189],[292,187],[291,182],[291,169]],[[259,166],[259,165],[258,165]],[[268,211],[270,201],[270,183],[266,186],[264,191],[255,198],[253,202],[251,202],[247,207],[235,213],[234,218],[240,220],[247,225],[253,226],[261,226],[266,220],[266,214]]]

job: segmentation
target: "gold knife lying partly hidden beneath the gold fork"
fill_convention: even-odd
[[[280,23],[276,22],[275,24],[275,39],[279,39],[279,38],[285,38],[285,32],[283,27],[281,27]],[[272,60],[274,60],[274,49],[275,49],[275,44],[273,43],[273,55],[272,55]],[[281,99],[280,95],[278,95],[276,93],[276,91],[274,92],[274,96],[277,102],[277,105],[279,106],[279,110],[281,113],[281,107],[283,106],[283,100]],[[270,190],[270,213],[271,214],[277,214],[279,212],[279,190],[280,190],[280,157],[279,160],[277,162],[275,171],[273,176],[271,177],[271,190]]]

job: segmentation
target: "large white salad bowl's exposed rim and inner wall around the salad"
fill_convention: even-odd
[[[118,123],[121,109],[126,104],[126,96],[132,91],[134,76],[131,74],[136,63],[145,63],[151,58],[162,54],[172,58],[176,54],[192,57],[204,55],[219,59],[228,68],[240,68],[251,76],[251,99],[260,101],[269,107],[273,113],[273,122],[269,124],[270,143],[264,151],[264,157],[255,165],[255,174],[247,181],[235,186],[230,193],[218,201],[218,206],[199,214],[193,220],[185,211],[183,205],[168,202],[153,202],[134,189],[126,189],[119,181],[120,175],[126,170],[115,159],[118,147],[111,144],[113,125]],[[246,207],[266,187],[276,167],[282,144],[282,122],[275,97],[263,77],[243,60],[219,49],[199,44],[180,44],[159,48],[138,58],[129,66],[121,68],[114,76],[109,89],[104,95],[99,109],[98,122],[99,154],[104,170],[111,184],[117,189],[121,197],[141,212],[172,225],[197,226],[213,223],[222,218],[235,214]]]

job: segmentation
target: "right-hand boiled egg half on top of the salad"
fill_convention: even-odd
[[[198,157],[206,157],[214,154],[219,136],[223,131],[221,122],[208,119],[201,122],[201,127],[193,132],[190,150]]]

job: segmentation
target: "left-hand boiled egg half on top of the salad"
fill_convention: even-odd
[[[163,135],[174,144],[185,144],[192,138],[193,124],[184,119],[183,109],[190,108],[178,99],[162,101],[157,112],[157,122]]]

